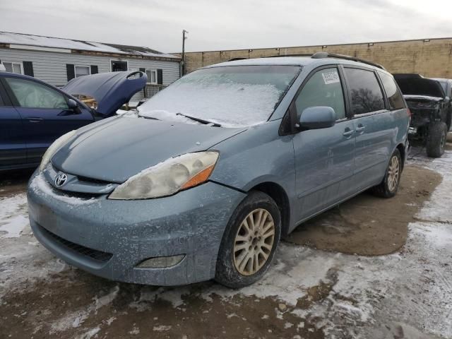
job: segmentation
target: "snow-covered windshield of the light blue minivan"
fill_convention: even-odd
[[[200,69],[151,97],[138,112],[142,117],[189,124],[261,124],[268,120],[299,71],[299,66]]]

